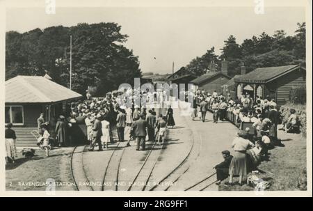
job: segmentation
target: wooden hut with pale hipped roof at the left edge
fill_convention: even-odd
[[[81,97],[47,76],[17,76],[6,81],[5,123],[13,123],[17,146],[36,146],[31,131],[37,130],[41,113],[49,122],[64,115],[68,103]]]

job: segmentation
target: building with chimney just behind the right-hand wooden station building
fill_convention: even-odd
[[[215,69],[216,70],[216,69]],[[194,89],[200,90],[204,89],[208,93],[223,93],[222,86],[226,84],[232,77],[227,75],[227,61],[222,62],[222,68],[220,71],[208,72],[196,79],[190,81],[191,84],[194,84]]]

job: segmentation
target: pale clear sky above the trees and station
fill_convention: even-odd
[[[230,35],[241,43],[263,31],[273,35],[283,29],[293,36],[297,22],[305,22],[301,7],[265,8],[263,15],[253,7],[154,7],[154,8],[8,8],[6,31],[20,33],[48,26],[75,26],[78,23],[116,22],[129,36],[125,46],[138,56],[142,72],[166,74],[187,65],[215,47],[220,54]]]

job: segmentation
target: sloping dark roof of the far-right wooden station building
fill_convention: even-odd
[[[234,79],[235,82],[259,82],[266,83],[280,77],[287,72],[300,68],[300,65],[285,65],[280,67],[257,68],[246,75]]]

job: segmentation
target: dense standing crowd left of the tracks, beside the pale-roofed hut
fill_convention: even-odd
[[[118,133],[118,141],[125,141],[125,127],[130,128],[127,146],[130,146],[130,141],[135,139],[137,150],[140,149],[139,146],[145,150],[145,136],[148,136],[148,141],[157,141],[158,144],[164,141],[166,128],[175,126],[172,108],[168,107],[165,116],[162,114],[157,116],[153,107],[149,109],[146,104],[136,104],[134,90],[127,89],[124,93],[128,93],[130,106],[127,106],[127,99],[120,97],[122,93],[118,91],[107,93],[105,97],[92,97],[87,92],[86,100],[72,102],[69,117],[65,118],[61,115],[56,123],[56,140],[59,146],[66,146],[71,144],[72,140],[79,139],[74,125],[81,123],[86,124],[90,151],[94,150],[95,146],[99,146],[99,150],[108,148],[109,144],[114,142],[112,131],[115,129]],[[140,100],[145,99],[149,102],[152,96],[150,95],[140,92],[139,97]],[[42,117],[38,118],[38,125],[42,123],[44,123]],[[38,127],[41,130],[42,126]]]

